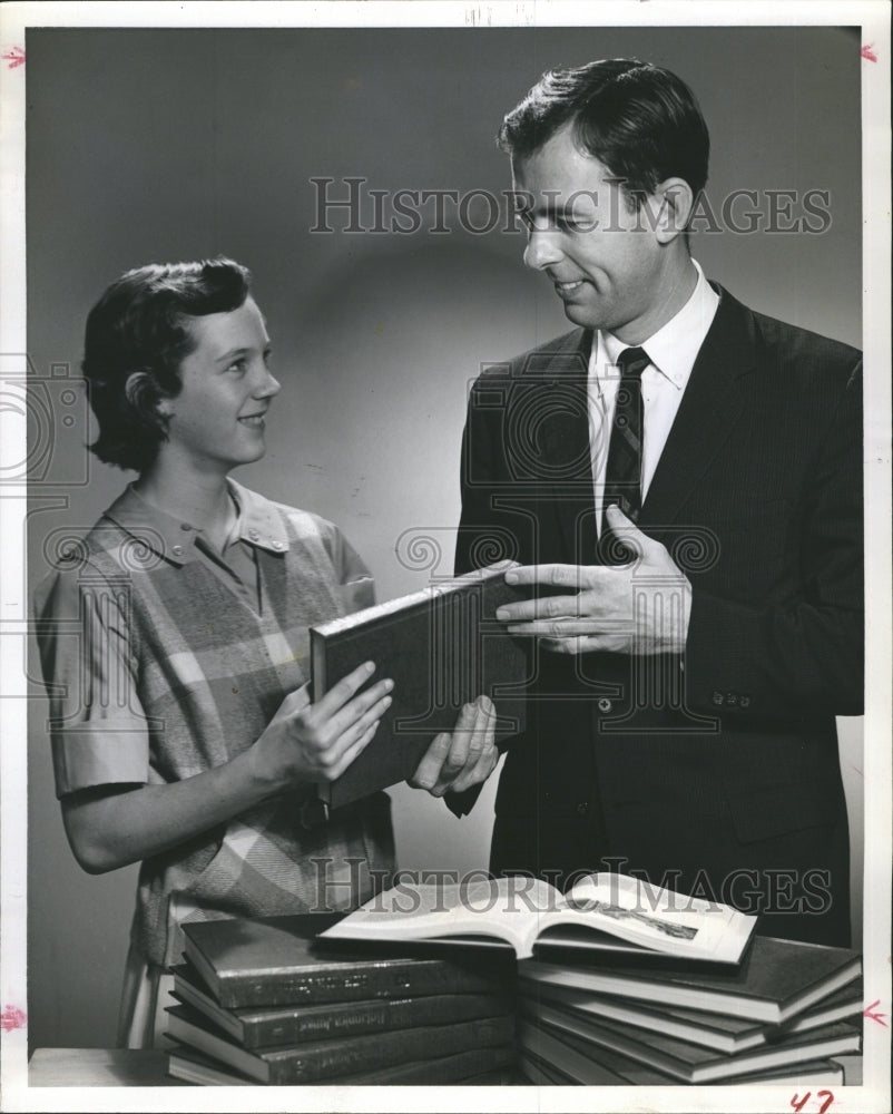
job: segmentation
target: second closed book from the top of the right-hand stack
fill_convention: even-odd
[[[784,1026],[703,1009],[661,1007],[569,986],[537,984],[537,993],[531,995],[531,985],[524,984],[528,990],[522,995],[529,1013],[536,1013],[539,1004],[546,1001],[597,1022],[624,1022],[707,1048],[716,1048],[728,1055],[782,1039],[788,1033],[805,1033],[862,1013],[862,979],[858,978],[805,1013],[798,1014]]]

